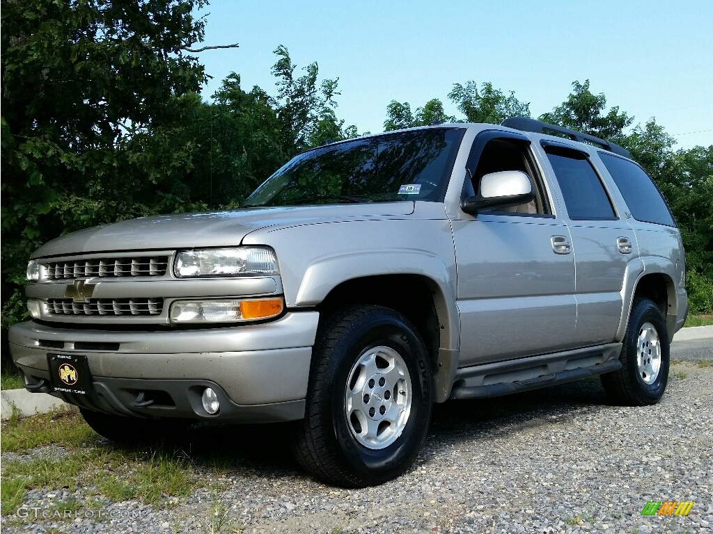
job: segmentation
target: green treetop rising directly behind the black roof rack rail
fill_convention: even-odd
[[[595,95],[589,89],[589,80],[574,81],[573,92],[553,112],[540,115],[540,120],[578,130],[579,132],[618,141],[625,136],[624,130],[634,122],[625,112],[614,106],[605,113],[607,98],[604,93]]]

